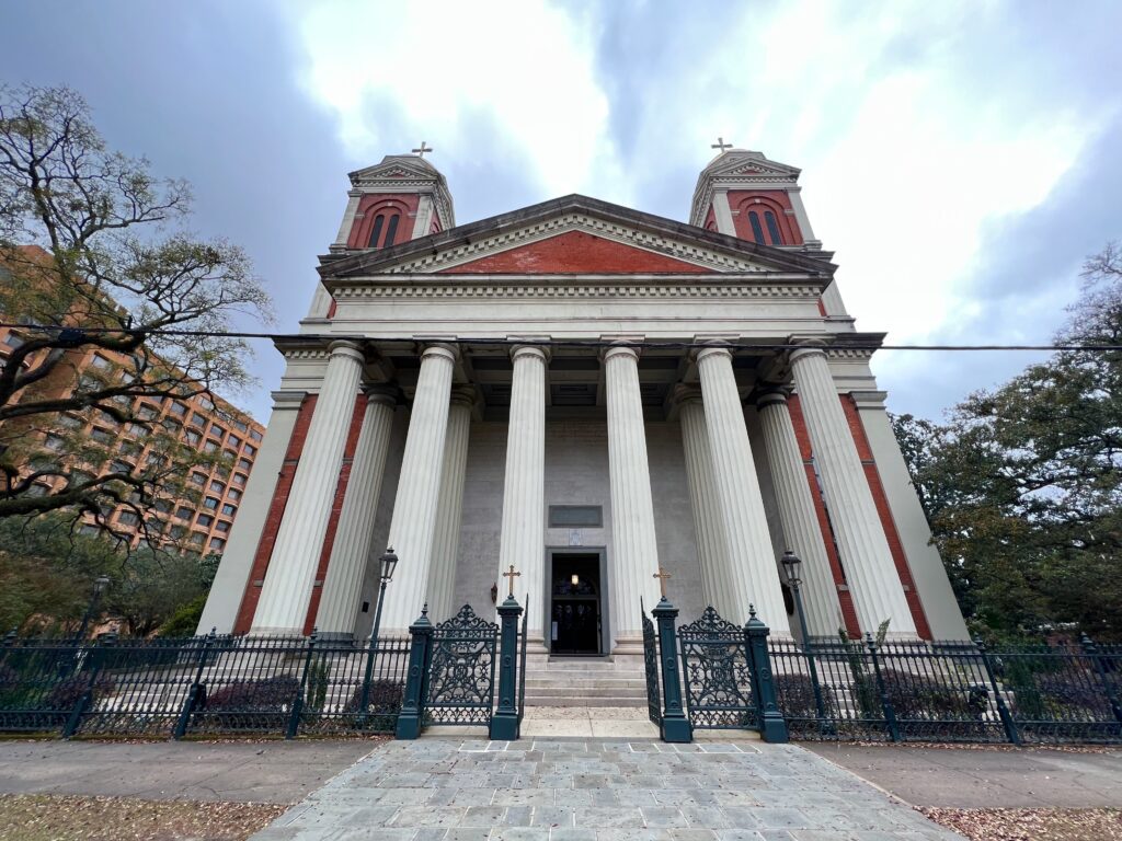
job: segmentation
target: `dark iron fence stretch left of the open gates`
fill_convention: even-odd
[[[169,737],[392,732],[407,639],[18,639],[0,648],[0,732]],[[369,677],[366,665],[369,663]]]

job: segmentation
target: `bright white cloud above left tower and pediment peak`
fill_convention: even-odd
[[[404,127],[387,126],[388,114],[370,108],[392,103],[407,130],[436,147],[444,172],[495,154],[467,148],[466,123],[484,117],[532,163],[527,175],[549,195],[613,177],[608,102],[594,78],[590,34],[546,2],[337,0],[307,7],[298,29],[305,83],[338,112],[356,159],[407,151],[392,147]]]

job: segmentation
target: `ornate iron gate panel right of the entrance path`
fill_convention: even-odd
[[[693,727],[758,728],[744,628],[721,619],[710,607],[697,621],[681,626],[678,639],[686,709]]]

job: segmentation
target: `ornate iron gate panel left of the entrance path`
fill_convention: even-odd
[[[489,726],[498,625],[465,604],[432,632],[424,724]]]

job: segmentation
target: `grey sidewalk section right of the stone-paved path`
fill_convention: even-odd
[[[950,808],[1122,807],[1122,750],[803,747],[913,806]]]

